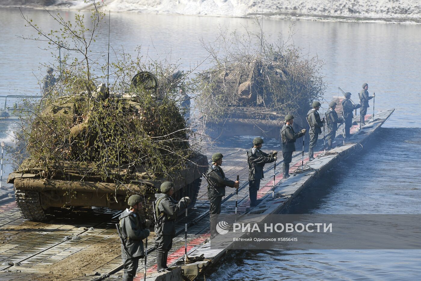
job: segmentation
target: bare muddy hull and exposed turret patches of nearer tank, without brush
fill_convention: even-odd
[[[149,83],[151,88],[157,86],[157,80],[151,73],[137,76],[141,78],[140,82]],[[124,100],[129,105],[127,111],[131,113],[139,109],[139,102],[130,93],[111,94],[109,97],[104,95],[107,94],[99,89],[94,98]],[[79,97],[79,99],[84,98],[87,97]],[[75,120],[78,114],[75,97],[61,97],[43,111],[44,116],[52,119]],[[73,127],[70,137],[77,138],[83,134],[86,126],[87,124],[82,122]],[[89,146],[92,137],[94,136],[85,138],[86,146]],[[78,148],[72,147],[72,149],[77,151]],[[25,159],[18,170],[9,174],[8,183],[14,184],[16,203],[22,215],[25,219],[33,221],[43,221],[53,216],[55,211],[74,207],[107,207],[124,210],[127,208],[128,196],[141,194],[147,199],[147,216],[153,222],[152,202],[155,200],[155,193],[159,192],[160,184],[168,178],[155,177],[140,164],[124,164],[124,159],[119,169],[110,171],[114,174],[114,179],[96,174],[95,167],[89,163],[77,165],[75,162],[62,161],[60,167],[36,167],[31,161],[34,160]],[[205,155],[197,153],[187,161],[186,165],[187,168],[177,170],[171,175],[175,184],[173,198],[179,200],[181,197],[189,196],[192,199],[189,208],[192,208],[196,203],[202,174],[208,169],[208,159]]]

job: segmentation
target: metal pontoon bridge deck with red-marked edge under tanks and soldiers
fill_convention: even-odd
[[[324,154],[323,140],[318,141],[316,159],[308,162],[304,159],[304,170],[300,170],[301,151],[296,151],[290,167],[290,178],[282,178],[282,169],[277,169],[273,182],[273,165],[266,165],[265,178],[261,182],[258,198],[261,203],[250,209],[248,199],[248,167],[245,149],[232,147],[211,148],[208,155],[218,151],[224,154],[223,168],[226,175],[234,179],[240,175],[238,192],[239,213],[274,214],[282,212],[288,204],[310,186],[323,173],[362,148],[369,137],[378,130],[393,113],[394,109],[376,113],[373,120],[361,128],[359,124],[351,128],[352,136],[342,144],[342,131],[338,129],[334,149]],[[359,119],[359,118],[358,118]],[[355,119],[355,122],[359,120]],[[299,141],[298,141],[299,142]],[[269,150],[265,144],[264,151]],[[277,166],[280,166],[277,161]],[[275,184],[272,198],[272,186]],[[147,280],[193,280],[220,260],[228,251],[213,249],[210,246],[209,203],[206,195],[207,184],[203,181],[199,191],[195,210],[190,211],[187,220],[180,218],[176,223],[178,235],[173,241],[173,249],[168,255],[168,265],[173,267],[169,273],[156,273],[155,233],[148,239]],[[234,213],[235,191],[227,188],[227,195],[222,205],[223,213]],[[10,191],[0,191],[7,194]],[[7,198],[5,198],[7,199]],[[121,280],[123,275],[120,256],[120,243],[114,228],[119,212],[106,208],[96,208],[91,212],[68,216],[63,214],[48,223],[28,222],[19,213],[15,202],[0,200],[0,281],[19,280],[66,280],[99,281]],[[184,224],[188,224],[187,251],[189,257],[204,255],[205,260],[184,265]],[[144,241],[145,242],[145,241]],[[78,259],[76,258],[78,257]],[[60,267],[62,265],[62,267]],[[135,280],[143,280],[143,262],[139,262]],[[70,267],[70,268],[69,268]],[[69,273],[69,269],[73,274]],[[184,275],[184,276],[183,276]]]

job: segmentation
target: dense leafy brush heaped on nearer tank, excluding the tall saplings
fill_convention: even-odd
[[[114,67],[129,69],[127,65]],[[21,169],[41,171],[44,178],[96,175],[115,181],[124,173],[165,177],[184,167],[194,151],[188,142],[191,131],[176,100],[183,78],[172,83],[171,75],[167,77],[173,68],[158,72],[157,79],[164,82],[154,91],[119,76],[122,80],[115,82],[110,94],[103,84],[102,89],[85,86],[89,90],[68,95],[84,85],[100,83],[64,85],[71,81],[65,77],[57,91],[35,107],[35,115],[24,119],[19,138],[30,160]]]

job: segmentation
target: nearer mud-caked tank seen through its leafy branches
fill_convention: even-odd
[[[155,76],[151,73],[141,73],[136,77],[138,79],[135,79],[135,82],[142,83],[144,88],[150,90],[151,97],[155,98],[155,102],[159,105],[161,101],[156,98],[158,95]],[[85,113],[81,112],[81,105],[90,98],[102,100],[102,107],[97,109],[101,112],[103,108],[110,110],[111,107],[111,110],[114,110],[112,105],[118,104],[115,110],[123,116],[121,118],[123,122],[127,120],[127,124],[120,127],[123,127],[123,130],[135,132],[132,134],[135,136],[141,132],[137,134],[136,130],[139,127],[133,125],[132,120],[144,120],[151,112],[145,110],[144,103],[133,93],[108,93],[104,84],[93,91],[91,96],[80,93],[75,96],[59,97],[43,110],[42,116],[45,122],[51,119],[51,124],[55,122],[70,124],[68,139],[56,140],[57,147],[52,148],[59,151],[59,154],[54,155],[59,155],[62,159],[59,158],[53,164],[48,164],[39,157],[33,157],[31,151],[28,151],[29,157],[21,163],[18,170],[9,175],[8,183],[14,184],[16,203],[24,218],[42,221],[63,208],[108,207],[124,210],[127,208],[126,202],[130,195],[141,194],[145,195],[147,200],[145,215],[153,221],[152,202],[155,200],[155,193],[159,192],[160,184],[166,180],[172,180],[175,184],[174,199],[179,200],[181,197],[189,196],[192,199],[189,208],[192,208],[197,199],[202,173],[208,169],[207,157],[191,151],[187,161],[182,165],[178,162],[172,163],[174,167],[179,168],[174,168],[171,173],[165,175],[157,175],[150,166],[155,165],[158,160],[149,155],[139,154],[139,151],[131,151],[131,141],[127,140],[127,143],[123,145],[129,148],[128,153],[122,152],[121,156],[119,155],[118,165],[110,161],[109,166],[104,166],[105,168],[102,167],[101,170],[97,165],[98,159],[95,159],[94,155],[102,157],[104,154],[98,154],[98,150],[107,150],[113,143],[109,143],[108,146],[98,146],[97,140],[106,138],[108,132],[103,127],[99,130],[91,130],[93,123],[90,120],[93,116],[83,116]],[[100,123],[109,122],[105,116],[101,116],[101,113],[96,114],[95,119],[100,120]],[[32,130],[37,130],[39,126],[40,122],[35,119],[32,122]],[[156,127],[158,127],[156,124],[152,124],[151,130],[156,130]],[[109,136],[117,139],[119,131],[116,132]],[[45,135],[46,142],[49,137]],[[182,146],[187,149],[189,147],[187,137],[178,135],[178,138],[184,138]],[[160,153],[164,152],[160,151]],[[125,156],[130,154],[135,154],[139,158],[133,160]]]

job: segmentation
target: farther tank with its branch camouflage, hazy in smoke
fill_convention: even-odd
[[[293,113],[295,126],[305,126],[302,100],[293,95],[288,63],[282,57],[255,57],[247,63],[206,70],[205,91],[197,101],[207,134],[212,137],[259,135],[280,139],[285,115]],[[208,82],[210,81],[210,83]],[[298,110],[297,110],[298,109]]]

